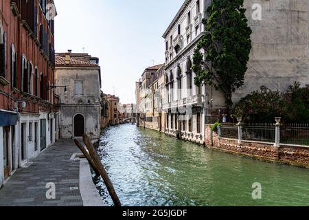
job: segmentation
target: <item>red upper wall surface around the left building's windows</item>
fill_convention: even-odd
[[[18,1],[18,0],[17,0]],[[21,1],[19,0],[19,13],[21,10]],[[31,0],[30,0],[31,1]],[[30,33],[27,32],[25,27],[21,25],[21,17],[16,17],[11,10],[10,0],[0,0],[0,22],[3,26],[3,31],[6,36],[6,71],[5,71],[5,79],[11,82],[11,63],[12,63],[12,55],[11,48],[12,44],[14,44],[15,52],[17,55],[17,89],[21,91],[21,56],[24,54],[27,58],[27,61],[31,61],[33,67],[38,68],[38,74],[43,73],[45,79],[50,83],[50,85],[54,85],[54,67],[52,63],[49,61],[49,54],[41,54],[40,47],[36,44],[36,41],[39,41],[40,36],[40,23],[43,24],[43,30],[48,31],[49,34],[49,43],[51,43],[54,48],[54,36],[52,36],[52,31],[47,25],[47,20],[45,19],[43,12],[40,8],[38,0],[34,0],[35,7],[38,12],[38,25],[37,25],[37,35],[36,39],[30,36]],[[35,80],[33,80],[35,82]],[[38,97],[30,96],[27,94],[23,94],[19,92],[17,94],[13,93],[11,89],[11,85],[3,86],[0,85],[0,109],[5,110],[13,110],[14,102],[13,99],[18,98],[27,102],[26,108],[23,109],[23,112],[28,113],[38,113],[40,109],[49,111],[49,105],[45,102],[45,100],[41,100],[39,98],[40,94],[40,79],[38,78]],[[47,84],[46,84],[47,85]],[[44,87],[44,92],[47,93],[47,88]],[[34,91],[34,88],[33,88]],[[53,93],[53,90],[51,91]],[[8,98],[8,94],[11,94],[11,98]],[[50,103],[53,103],[53,95],[49,98]],[[54,106],[52,106],[54,109]]]

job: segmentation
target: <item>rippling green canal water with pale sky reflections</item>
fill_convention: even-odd
[[[124,206],[309,206],[309,170],[256,161],[125,124],[98,148]],[[113,202],[94,177],[104,202]],[[253,184],[262,199],[253,199]]]

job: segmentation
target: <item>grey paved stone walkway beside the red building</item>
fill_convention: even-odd
[[[29,168],[20,168],[0,190],[0,206],[82,206],[80,162],[70,160],[80,150],[71,140],[47,148]],[[47,183],[56,185],[56,199],[47,199]]]

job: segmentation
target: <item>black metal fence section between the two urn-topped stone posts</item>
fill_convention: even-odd
[[[275,125],[270,123],[243,124],[242,140],[275,142]]]

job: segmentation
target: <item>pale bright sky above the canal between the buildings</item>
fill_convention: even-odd
[[[102,91],[135,103],[144,69],[164,63],[163,33],[184,0],[54,0],[56,52],[100,58]]]

